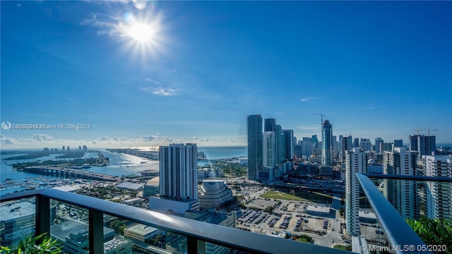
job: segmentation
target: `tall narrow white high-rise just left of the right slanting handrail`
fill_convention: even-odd
[[[345,152],[345,218],[347,232],[359,236],[359,181],[357,173],[367,174],[367,152],[355,147]]]

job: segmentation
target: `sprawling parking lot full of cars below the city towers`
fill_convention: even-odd
[[[307,234],[314,239],[314,243],[321,246],[333,247],[335,244],[347,245],[346,238],[341,234],[341,223],[344,218],[339,217],[338,208],[332,208],[331,216],[320,217],[307,214],[307,207],[324,207],[325,203],[309,200],[285,200],[261,197],[268,187],[246,187],[239,191],[244,197],[246,208],[237,210],[237,227],[260,234],[284,237],[287,235]],[[275,191],[273,191],[275,193]],[[268,210],[268,207],[273,207]],[[267,210],[266,210],[267,208]],[[271,212],[271,213],[269,213]],[[378,234],[376,225],[362,225],[362,236],[371,242],[386,242],[383,234]],[[348,241],[348,240],[347,240]]]

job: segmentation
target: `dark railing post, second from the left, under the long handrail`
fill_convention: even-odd
[[[90,221],[90,254],[104,253],[104,214],[89,210]]]

